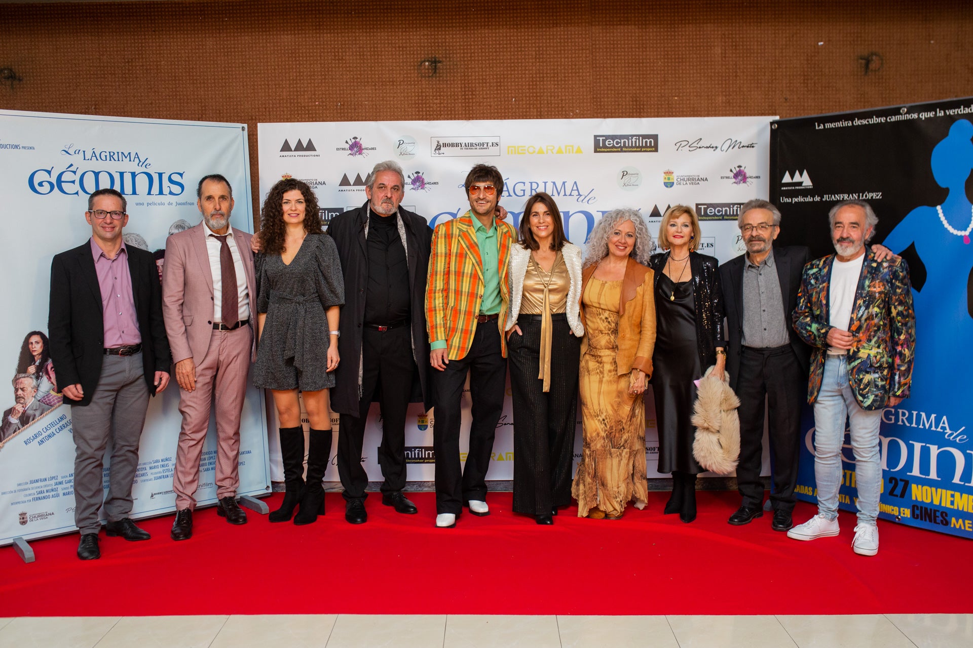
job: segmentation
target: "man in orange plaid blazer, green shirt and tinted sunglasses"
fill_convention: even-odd
[[[440,223],[432,235],[426,325],[433,376],[436,526],[456,526],[463,503],[489,515],[486,469],[503,412],[507,377],[507,267],[514,228],[495,218],[503,192],[496,167],[477,164],[466,176],[470,211]],[[459,464],[460,399],[470,374],[473,424],[465,468]]]

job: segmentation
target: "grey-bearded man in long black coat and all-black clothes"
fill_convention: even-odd
[[[344,519],[353,525],[368,520],[362,443],[373,400],[382,418],[381,503],[399,513],[416,512],[402,495],[405,426],[410,401],[432,407],[423,307],[432,228],[399,206],[405,186],[398,164],[379,162],[366,181],[368,202],[335,217],[328,227],[342,259],[345,296],[338,340],[342,363],[331,408],[341,415],[338,472]]]

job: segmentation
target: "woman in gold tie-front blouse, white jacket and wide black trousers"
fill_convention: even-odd
[[[581,249],[564,236],[554,199],[535,193],[510,250],[507,319],[514,400],[514,511],[552,525],[571,503],[577,409]]]

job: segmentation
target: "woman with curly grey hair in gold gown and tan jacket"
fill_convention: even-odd
[[[581,304],[581,463],[572,495],[578,516],[618,520],[643,508],[645,406],[656,343],[652,236],[633,209],[608,212],[588,239]]]

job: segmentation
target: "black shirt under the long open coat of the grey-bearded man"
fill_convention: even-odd
[[[381,216],[369,209],[365,324],[382,326],[410,318],[409,264],[397,220],[395,214]]]

